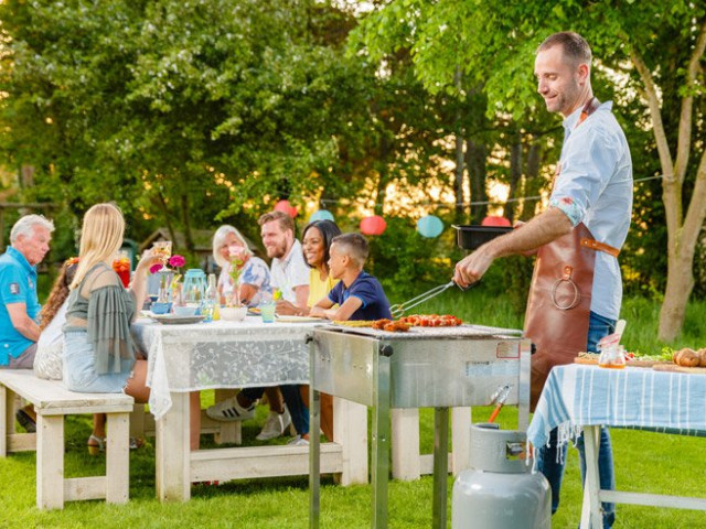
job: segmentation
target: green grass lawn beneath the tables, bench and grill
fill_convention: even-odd
[[[397,301],[397,300],[395,300]],[[629,321],[625,339],[629,348],[656,353],[663,344],[654,338],[657,306],[643,300],[627,300],[624,314]],[[466,294],[448,292],[435,304],[421,306],[419,312],[451,312],[466,321],[488,325],[517,327],[521,319],[512,315],[502,299],[486,295],[480,288]],[[703,322],[704,303],[693,303],[687,313],[685,335],[678,346],[704,346],[706,339],[697,322]],[[700,314],[700,316],[699,316]],[[203,406],[213,399],[204,392]],[[472,410],[473,421],[482,422],[490,408]],[[244,424],[245,444],[263,444],[254,440],[266,410],[260,407],[258,418]],[[432,410],[421,410],[422,451],[432,450]],[[516,424],[516,410],[503,409],[499,417],[502,428]],[[85,443],[90,433],[88,415],[72,417],[66,424],[66,475],[96,473],[105,465],[105,457],[88,455]],[[706,497],[702,489],[700,439],[677,435],[612,430],[618,487],[625,490],[655,494]],[[207,436],[202,438],[210,445]],[[278,441],[278,442],[284,442]],[[553,518],[554,528],[575,529],[580,516],[581,490],[576,450],[569,450],[561,492],[561,507]],[[249,479],[223,484],[218,487],[194,486],[186,504],[160,504],[156,499],[153,440],[130,454],[130,501],[109,506],[104,501],[66,504],[62,511],[40,511],[35,507],[35,455],[12,454],[0,462],[0,528],[152,528],[152,527],[216,527],[216,528],[306,528],[309,517],[308,478]],[[451,516],[452,477],[449,477],[449,519]],[[330,476],[322,479],[321,527],[370,527],[371,487],[341,487]],[[389,527],[418,528],[431,525],[430,476],[417,482],[389,483]],[[703,512],[659,509],[652,507],[618,506],[616,528],[682,528],[706,527]]]

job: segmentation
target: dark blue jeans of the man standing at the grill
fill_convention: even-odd
[[[600,338],[611,334],[616,330],[616,321],[600,316],[595,312],[590,313],[588,323],[588,344],[586,350],[596,353]],[[586,455],[584,452],[584,435],[576,441],[581,467],[581,483],[586,479]],[[557,452],[561,453],[558,454]],[[549,445],[539,449],[537,454],[537,468],[545,475],[552,487],[552,514],[559,508],[559,489],[564,478],[564,466],[566,462],[566,446],[557,450],[557,429],[549,433]],[[616,476],[613,474],[613,453],[610,444],[610,434],[607,428],[600,429],[600,449],[598,452],[598,473],[600,488],[614,490]],[[602,504],[603,528],[610,529],[616,520],[616,504]]]

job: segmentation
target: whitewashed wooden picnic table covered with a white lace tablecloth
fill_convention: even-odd
[[[185,501],[191,483],[247,477],[307,475],[307,446],[199,450],[189,442],[189,393],[214,388],[308,384],[307,334],[321,323],[217,321],[185,325],[139,319],[137,345],[148,354],[150,411],[156,418],[157,494]],[[334,399],[334,442],[324,444],[322,472],[342,484],[367,482],[365,407]]]

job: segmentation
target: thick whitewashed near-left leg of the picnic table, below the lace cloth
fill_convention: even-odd
[[[171,393],[172,407],[157,421],[157,497],[188,501],[191,497],[189,393]]]

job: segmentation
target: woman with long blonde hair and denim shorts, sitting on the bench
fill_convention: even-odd
[[[113,204],[96,204],[84,216],[64,325],[63,379],[72,391],[125,392],[147,402],[147,361],[135,357],[130,322],[142,306],[147,272],[158,258],[148,251],[126,290],[111,267],[124,233],[122,213]],[[105,450],[105,415],[94,415],[88,451]]]

